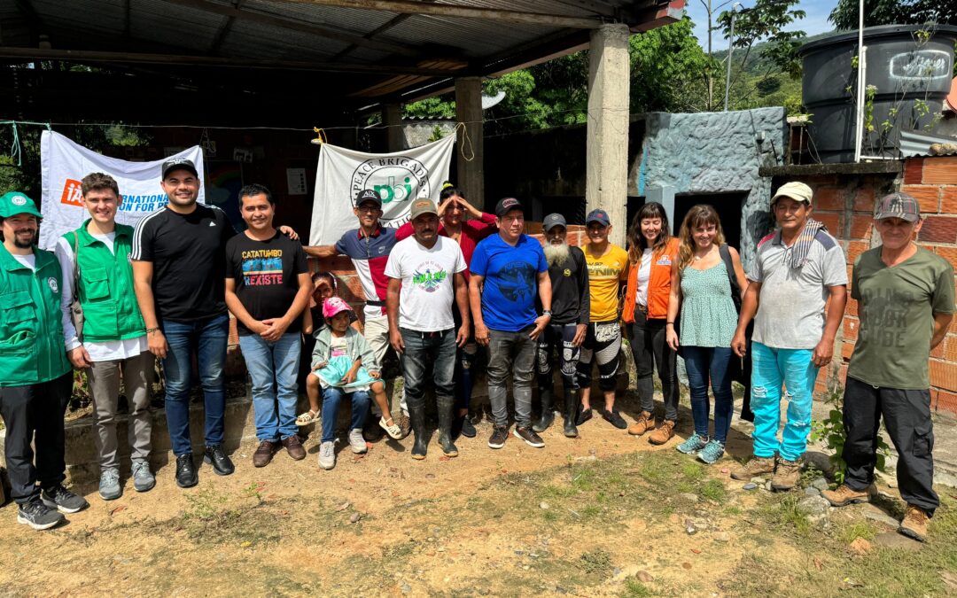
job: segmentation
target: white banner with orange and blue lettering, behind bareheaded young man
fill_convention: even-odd
[[[174,156],[192,160],[202,179],[203,150],[199,145]],[[116,179],[121,195],[117,222],[136,226],[140,218],[166,206],[167,195],[160,187],[160,168],[170,158],[172,156],[156,162],[126,162],[98,154],[53,131],[44,131],[40,137],[40,172],[43,184],[40,247],[53,250],[57,238],[63,233],[76,230],[90,217],[83,207],[79,181],[91,172],[103,172]],[[201,185],[199,201],[205,203],[205,200],[206,191]]]

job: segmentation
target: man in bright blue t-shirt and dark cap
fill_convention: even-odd
[[[551,320],[551,279],[542,244],[523,234],[522,204],[514,197],[495,207],[499,234],[479,243],[472,255],[469,299],[476,342],[489,347],[488,395],[495,429],[488,446],[501,449],[508,438],[507,388],[513,371],[515,435],[530,446],[545,443],[531,428],[532,375],[536,341]],[[542,315],[535,310],[536,295]]]

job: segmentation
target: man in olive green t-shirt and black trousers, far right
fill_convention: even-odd
[[[834,506],[870,500],[880,416],[897,449],[898,487],[907,510],[902,534],[924,541],[940,506],[934,492],[930,420],[930,351],[946,336],[954,312],[953,266],[914,243],[921,230],[917,200],[892,193],[880,200],[874,228],[881,245],[857,257],[851,298],[860,329],[844,388],[841,458],[844,483],[821,496]]]

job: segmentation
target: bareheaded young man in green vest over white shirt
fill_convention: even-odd
[[[133,289],[129,262],[133,227],[116,222],[120,188],[113,177],[94,172],[80,181],[80,191],[90,218],[56,242],[63,274],[63,336],[70,362],[89,374],[96,416],[94,442],[100,456],[100,498],[113,500],[122,496],[116,425],[121,375],[129,403],[126,436],[133,489],[145,492],[156,485],[149,471],[149,388],[155,358],[146,343],[146,327]],[[79,299],[83,308],[81,338],[71,317],[74,299]]]

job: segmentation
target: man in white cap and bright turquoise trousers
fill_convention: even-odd
[[[758,243],[731,340],[734,352],[744,357],[745,330],[754,319],[754,458],[732,471],[731,477],[773,474],[771,488],[779,491],[793,488],[800,476],[800,459],[811,432],[817,368],[831,363],[847,302],[844,252],[835,237],[811,218],[811,198],[811,188],[796,182],[783,185],[771,198],[771,211],[781,229]],[[779,442],[782,385],[788,388],[789,403]]]

